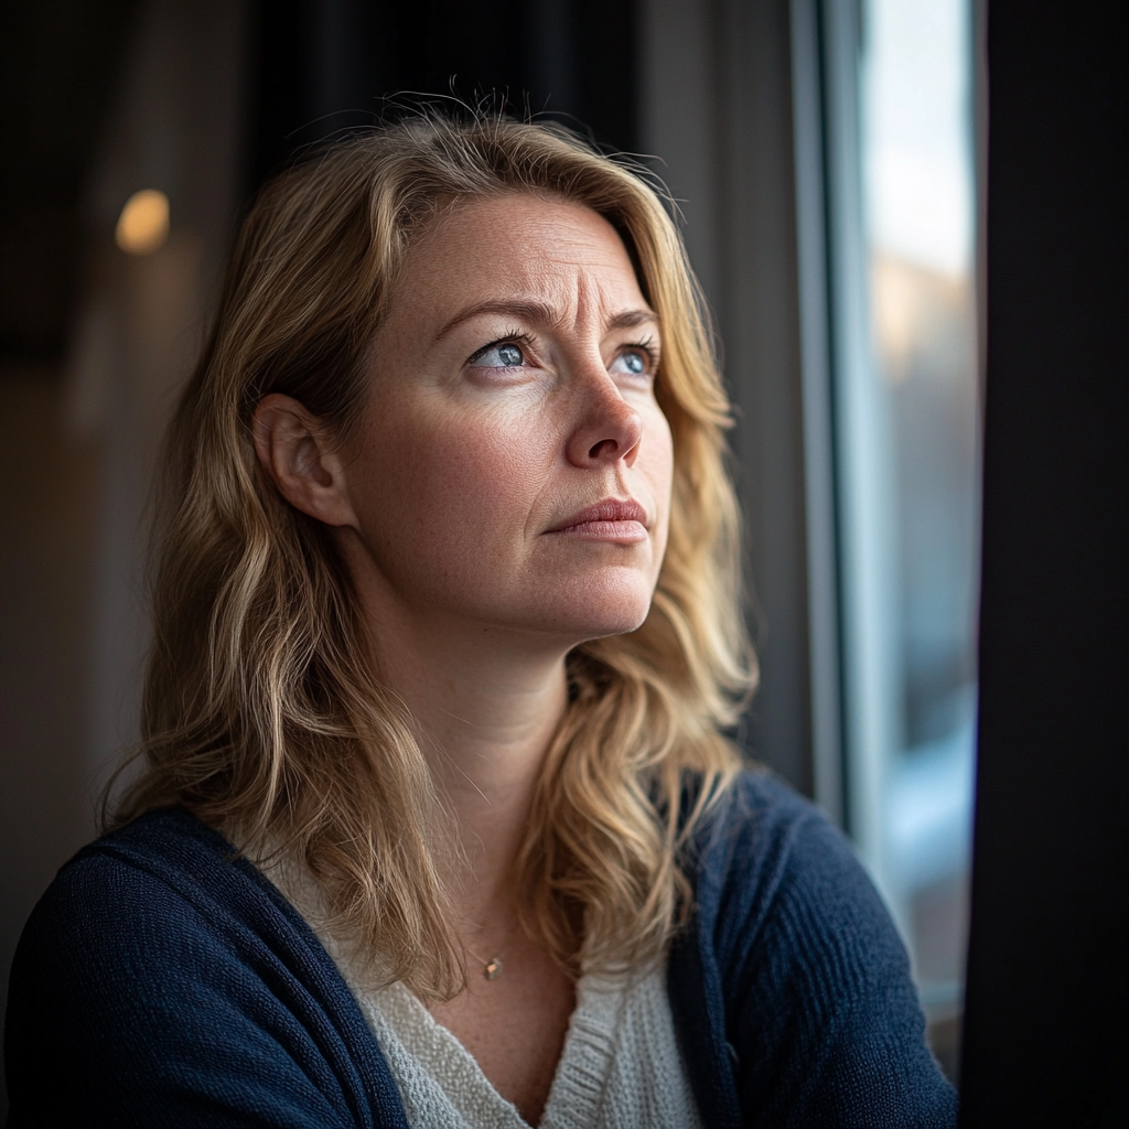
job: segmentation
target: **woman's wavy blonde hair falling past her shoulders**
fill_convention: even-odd
[[[519,856],[525,926],[559,962],[658,956],[690,907],[679,848],[738,769],[721,730],[755,666],[739,613],[729,404],[704,307],[638,169],[564,130],[425,110],[268,184],[166,447],[141,771],[125,822],[178,804],[280,846],[334,928],[425,999],[463,983],[436,851],[437,800],[409,718],[360,645],[349,576],[320,524],[260,467],[250,420],[280,392],[341,434],[412,240],[452,201],[536,192],[607,219],[663,325],[674,438],[669,542],[646,622],[570,653],[570,700]],[[250,846],[248,846],[250,844]]]

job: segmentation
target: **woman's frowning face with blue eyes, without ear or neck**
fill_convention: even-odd
[[[345,467],[371,611],[572,646],[647,615],[673,452],[660,333],[595,212],[514,193],[412,250]]]

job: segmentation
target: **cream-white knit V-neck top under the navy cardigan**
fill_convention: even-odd
[[[359,987],[306,875],[268,877],[306,918],[357,998],[412,1129],[528,1129],[474,1057],[402,983]],[[542,1129],[701,1129],[666,995],[665,964],[636,977],[587,973],[576,988]]]

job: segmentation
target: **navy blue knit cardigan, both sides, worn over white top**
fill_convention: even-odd
[[[953,1126],[904,949],[850,847],[745,774],[689,860],[669,995],[702,1121]],[[219,834],[152,812],[80,851],[12,965],[9,1126],[406,1127],[306,922]]]

